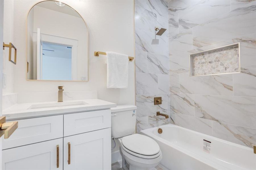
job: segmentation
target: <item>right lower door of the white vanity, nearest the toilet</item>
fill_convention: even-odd
[[[111,170],[111,128],[64,137],[63,150],[64,170]]]

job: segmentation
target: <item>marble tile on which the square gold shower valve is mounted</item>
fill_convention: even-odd
[[[154,105],[154,97],[162,97],[161,105]],[[169,113],[169,95],[136,95],[137,117],[154,116],[156,112]]]

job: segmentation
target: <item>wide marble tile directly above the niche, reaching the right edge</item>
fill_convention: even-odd
[[[256,1],[193,27],[193,45],[203,47],[255,33]]]

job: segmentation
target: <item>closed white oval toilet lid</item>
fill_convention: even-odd
[[[137,133],[123,137],[122,145],[132,152],[142,155],[155,155],[160,151],[156,141],[150,137]]]

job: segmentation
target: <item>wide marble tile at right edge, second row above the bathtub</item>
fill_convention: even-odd
[[[256,129],[256,98],[195,95],[195,116]]]

